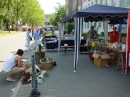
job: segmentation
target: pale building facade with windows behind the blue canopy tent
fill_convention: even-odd
[[[74,7],[75,10],[72,7],[74,4],[69,4],[70,2],[73,3],[72,1],[75,1],[77,3],[77,7]],[[82,2],[81,2],[82,1]],[[85,8],[88,8],[94,4],[102,4],[102,5],[108,5],[108,6],[115,6],[115,7],[125,7],[125,8],[130,8],[130,0],[66,0],[66,4],[70,5],[71,7],[66,6],[67,8],[67,15],[76,12],[77,10],[82,10]],[[73,11],[72,11],[73,9]],[[103,29],[103,22],[84,22],[83,23],[83,32],[88,32],[91,26],[95,26],[95,28],[98,28],[98,33],[100,34],[101,32],[104,32]],[[123,33],[126,33],[127,27],[126,25],[123,26]],[[113,25],[108,25],[108,31],[112,31]]]

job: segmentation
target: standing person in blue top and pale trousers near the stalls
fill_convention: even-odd
[[[39,29],[37,29],[34,32],[33,37],[34,37],[34,49],[36,49],[36,47],[38,46],[38,44],[40,42],[40,38],[41,38],[41,34],[40,34]]]

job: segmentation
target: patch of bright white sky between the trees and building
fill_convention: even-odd
[[[60,3],[61,5],[65,4],[65,0],[38,0],[41,8],[44,10],[45,14],[51,14],[55,12],[54,7],[58,7],[59,5],[57,3]]]

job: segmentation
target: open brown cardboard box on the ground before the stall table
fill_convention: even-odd
[[[98,67],[105,67],[108,65],[108,59],[110,56],[106,53],[94,53],[94,64],[97,65]]]

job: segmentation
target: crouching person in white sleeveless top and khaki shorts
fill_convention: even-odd
[[[14,79],[15,75],[19,75],[25,72],[26,67],[23,64],[23,55],[24,51],[18,49],[16,54],[11,55],[3,64],[2,72],[7,76],[7,81],[16,81]]]

